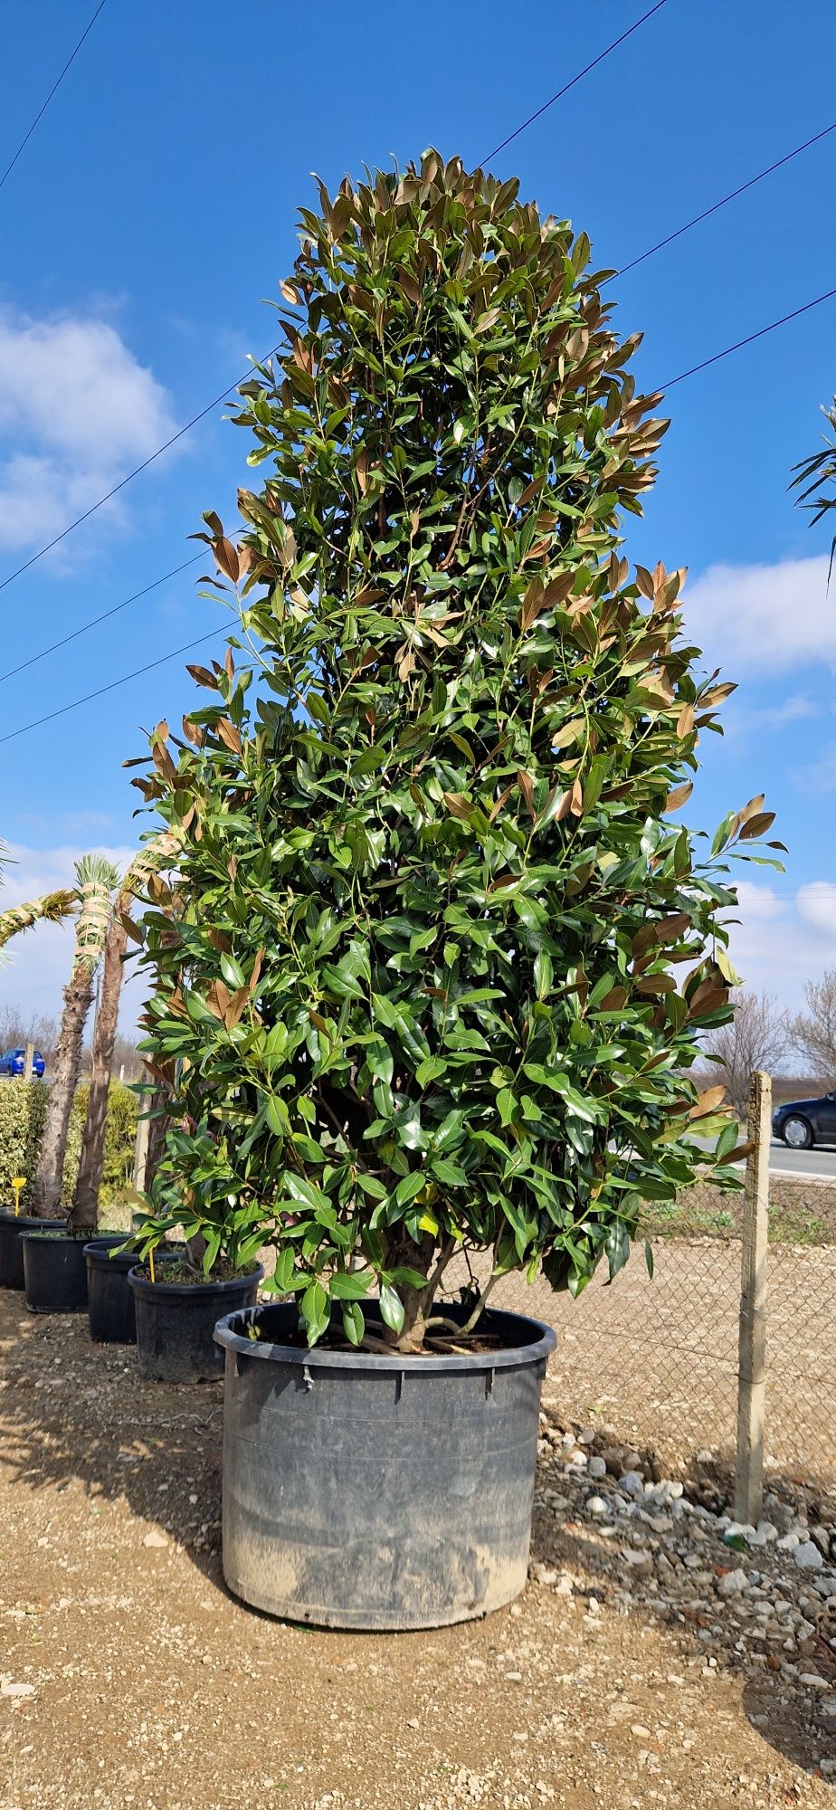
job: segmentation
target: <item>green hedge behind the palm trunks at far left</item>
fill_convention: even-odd
[[[69,1205],[81,1158],[81,1133],[87,1115],[89,1082],[76,1090],[72,1100],[67,1157],[63,1162],[62,1202]],[[43,1120],[47,1117],[49,1088],[43,1081],[0,1081],[0,1205],[14,1200],[11,1180],[25,1175],[27,1186],[20,1204],[31,1198],[31,1184],[38,1166]],[[119,1200],[130,1187],[134,1164],[138,1100],[130,1088],[118,1081],[110,1084],[107,1108],[105,1169],[100,1204]]]

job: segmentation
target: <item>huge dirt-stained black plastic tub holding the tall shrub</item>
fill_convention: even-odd
[[[282,1343],[295,1323],[282,1303],[215,1327],[230,1589],[293,1622],[391,1631],[512,1602],[552,1329],[485,1312],[501,1348],[407,1358]]]

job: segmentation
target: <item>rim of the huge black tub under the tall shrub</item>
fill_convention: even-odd
[[[519,1327],[536,1327],[539,1338],[528,1345],[510,1345],[498,1352],[451,1352],[438,1354],[434,1358],[422,1358],[411,1352],[393,1352],[389,1358],[385,1352],[329,1352],[322,1350],[318,1345],[279,1345],[268,1343],[266,1339],[248,1339],[241,1332],[233,1330],[232,1321],[252,1323],[253,1316],[261,1312],[261,1307],[239,1307],[233,1314],[226,1314],[217,1321],[214,1330],[215,1345],[223,1345],[224,1350],[237,1352],[246,1358],[259,1358],[262,1363],[295,1363],[302,1368],[317,1370],[369,1370],[373,1374],[393,1374],[411,1370],[414,1376],[438,1376],[442,1372],[463,1374],[467,1370],[512,1370],[521,1365],[539,1363],[548,1358],[557,1345],[557,1334],[554,1327],[548,1327],[545,1319],[532,1319],[528,1314],[512,1314],[503,1309],[485,1309],[485,1318],[496,1319],[499,1314],[503,1319],[516,1319]]]

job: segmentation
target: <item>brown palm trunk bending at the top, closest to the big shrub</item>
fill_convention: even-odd
[[[119,1019],[121,976],[128,939],[128,910],[134,898],[148,885],[152,874],[156,874],[161,867],[166,867],[177,854],[177,836],[170,833],[154,836],[130,863],[123,881],[119,883],[116,903],[110,912],[101,970],[100,1008],[96,1014],[96,1030],[92,1039],[90,1093],[81,1138],[81,1162],[78,1167],[78,1182],[71,1213],[74,1225],[96,1225],[98,1216],[101,1169],[105,1162],[107,1097],[110,1090],[116,1026]]]

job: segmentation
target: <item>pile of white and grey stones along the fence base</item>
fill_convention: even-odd
[[[592,1571],[622,1613],[641,1607],[697,1634],[706,1669],[769,1678],[771,1709],[753,1723],[765,1732],[778,1700],[822,1777],[836,1779],[836,1502],[771,1491],[762,1520],[742,1524],[711,1479],[660,1477],[650,1453],[566,1428],[548,1399],[539,1461],[536,1508],[581,1535],[581,1569],[534,1564],[534,1578],[568,1591]]]

